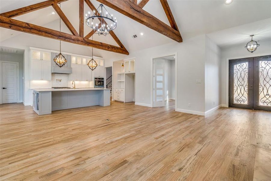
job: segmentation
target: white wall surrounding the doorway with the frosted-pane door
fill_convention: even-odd
[[[130,52],[129,56],[125,56],[125,59],[136,58],[135,102],[144,106],[152,105],[152,57],[162,57],[176,52],[178,92],[175,98],[177,99],[177,110],[202,114],[205,112],[205,35],[184,40],[183,43],[174,42]],[[113,61],[115,58],[110,60]],[[196,84],[196,79],[201,79],[202,84]],[[191,107],[188,107],[188,103],[191,104]]]

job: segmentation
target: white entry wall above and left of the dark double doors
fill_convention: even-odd
[[[244,47],[244,44],[239,44],[236,46],[230,46],[221,49],[221,103],[223,106],[227,105],[226,102],[226,92],[227,92],[227,81],[226,77],[229,74],[226,72],[227,69],[227,59],[241,59],[245,57],[255,57],[262,56],[263,54],[271,55],[271,41],[260,41],[260,46],[258,49],[251,53],[248,52]]]

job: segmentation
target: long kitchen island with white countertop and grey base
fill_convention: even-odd
[[[110,106],[110,89],[33,89],[33,110],[38,115],[87,106]]]

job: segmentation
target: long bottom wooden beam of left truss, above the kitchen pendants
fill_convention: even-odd
[[[121,48],[121,47],[97,42],[94,40],[89,40],[83,37],[78,37],[78,36],[71,35],[68,33],[63,33],[60,31],[49,29],[49,28],[37,26],[35,24],[18,21],[18,20],[11,19],[5,16],[0,16],[0,27],[21,31],[24,33],[30,33],[30,34],[34,34],[34,35],[38,35],[42,37],[52,38],[55,40],[62,40],[65,42],[75,43],[78,45],[91,46],[97,49],[129,55],[129,52],[126,49]]]

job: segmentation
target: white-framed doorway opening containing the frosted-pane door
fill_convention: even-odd
[[[176,54],[152,58],[152,107],[177,109]]]

